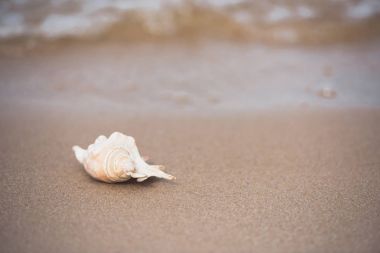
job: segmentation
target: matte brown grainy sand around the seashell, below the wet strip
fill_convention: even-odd
[[[380,111],[197,118],[1,109],[1,252],[378,252]],[[94,181],[119,130],[175,182]]]

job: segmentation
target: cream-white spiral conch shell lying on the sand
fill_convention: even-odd
[[[87,150],[74,146],[73,151],[87,173],[103,182],[124,182],[130,178],[142,182],[149,177],[175,179],[161,171],[162,165],[147,164],[140,156],[135,139],[119,132],[108,139],[100,135]]]

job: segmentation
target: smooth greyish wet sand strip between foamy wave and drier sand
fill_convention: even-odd
[[[237,42],[0,46],[0,100],[128,114],[380,108],[380,40],[325,47]],[[321,96],[331,89],[334,99]],[[327,97],[328,98],[328,97]]]

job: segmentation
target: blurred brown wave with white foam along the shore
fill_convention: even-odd
[[[5,1],[2,43],[228,39],[274,45],[379,38],[380,3],[362,1]]]

